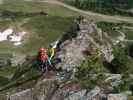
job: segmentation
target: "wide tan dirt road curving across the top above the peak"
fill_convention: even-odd
[[[133,18],[132,17],[122,17],[122,16],[110,16],[110,15],[103,15],[103,14],[99,14],[99,13],[94,13],[91,11],[83,11],[80,9],[77,9],[73,6],[67,5],[63,2],[60,1],[56,1],[56,0],[39,0],[36,2],[44,2],[44,3],[51,3],[51,4],[56,4],[56,5],[60,5],[63,6],[65,8],[68,8],[70,10],[73,10],[75,12],[78,12],[82,15],[97,19],[97,20],[102,20],[102,21],[110,21],[110,22],[128,22],[128,23],[133,23]]]

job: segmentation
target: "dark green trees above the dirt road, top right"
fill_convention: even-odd
[[[133,0],[64,0],[83,10],[92,10],[103,14],[133,16],[126,10],[133,8]],[[123,10],[119,10],[119,9]]]

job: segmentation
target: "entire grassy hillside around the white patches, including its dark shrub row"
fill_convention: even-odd
[[[41,46],[47,47],[66,32],[77,13],[54,4],[26,1],[5,0],[0,5],[0,31],[12,29],[13,33],[27,32],[20,46],[12,43],[0,42],[1,53],[11,53],[14,56],[36,53]],[[39,13],[46,15],[39,15]],[[64,13],[65,12],[65,13]],[[10,15],[8,15],[10,13]],[[36,16],[36,13],[37,16]]]

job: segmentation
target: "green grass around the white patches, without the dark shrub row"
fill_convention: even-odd
[[[14,47],[10,43],[0,43],[0,52],[4,50],[15,51],[21,53],[34,52],[40,46],[47,46],[50,42],[56,40],[63,34],[73,22],[74,13],[64,7],[53,4],[23,2],[23,1],[7,1],[0,5],[0,10],[22,11],[22,12],[40,12],[48,13],[48,16],[34,16],[19,26],[25,18],[15,18],[0,21],[1,30],[12,27],[15,30],[26,30],[29,32],[30,39],[23,46]],[[4,26],[4,27],[3,27]],[[36,52],[36,51],[35,51]]]

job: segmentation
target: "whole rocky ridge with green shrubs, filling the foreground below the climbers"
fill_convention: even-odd
[[[62,71],[41,77],[26,60],[12,82],[1,88],[2,93],[8,91],[10,100],[111,100],[115,95],[122,100],[131,95],[133,59],[124,51],[124,40],[111,39],[86,19],[77,24],[79,29],[64,34],[59,42],[57,55],[61,63],[56,68]]]

